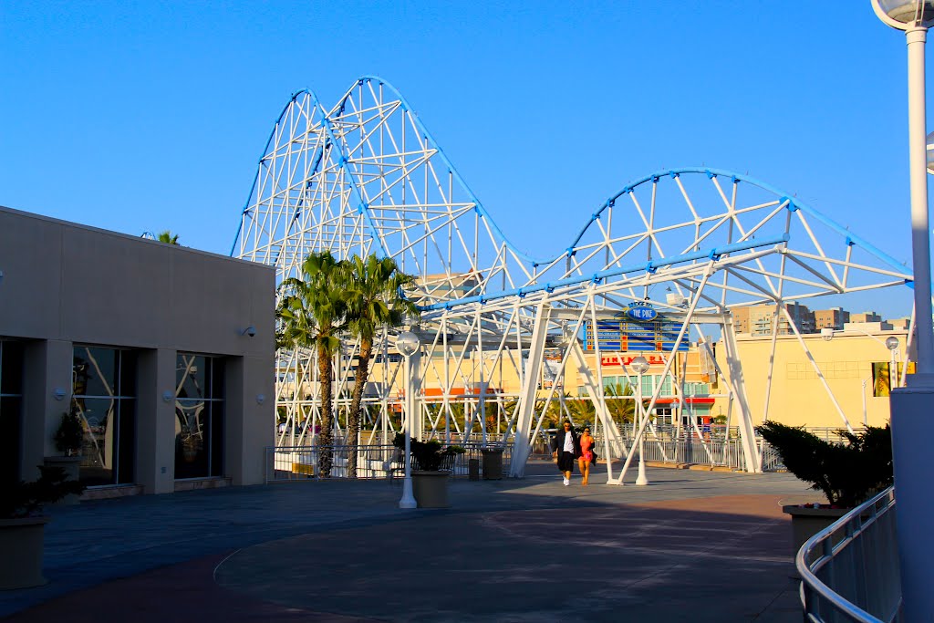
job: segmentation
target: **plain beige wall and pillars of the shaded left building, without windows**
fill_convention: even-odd
[[[0,271],[0,337],[26,344],[22,477],[55,453],[74,346],[92,345],[137,354],[136,479],[147,491],[173,490],[165,394],[180,351],[225,361],[224,472],[262,482],[275,403],[271,267],[0,207]]]

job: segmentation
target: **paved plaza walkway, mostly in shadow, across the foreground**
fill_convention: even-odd
[[[814,494],[790,474],[649,469],[648,487],[584,488],[529,473],[455,480],[446,510],[399,510],[385,481],[56,507],[50,584],[0,592],[0,616],[800,622],[780,507]]]

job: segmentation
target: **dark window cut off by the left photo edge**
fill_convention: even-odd
[[[0,340],[0,479],[21,480],[22,345]]]

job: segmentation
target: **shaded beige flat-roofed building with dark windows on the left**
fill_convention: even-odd
[[[261,483],[274,297],[268,266],[0,208],[0,475],[70,411],[89,486]]]

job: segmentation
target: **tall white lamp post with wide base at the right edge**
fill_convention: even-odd
[[[925,137],[925,40],[934,24],[932,0],[872,0],[885,24],[905,32],[908,42],[908,154],[912,198],[914,317],[917,331],[915,374],[905,388],[891,392],[892,454],[899,501],[899,566],[906,621],[930,620],[934,612],[934,539],[927,523],[934,517],[928,460],[934,401],[934,331],[931,327],[930,233],[927,229],[927,141]]]

